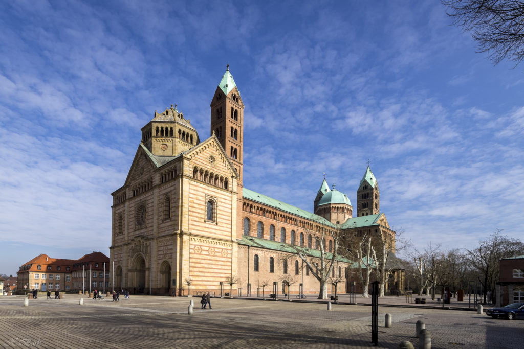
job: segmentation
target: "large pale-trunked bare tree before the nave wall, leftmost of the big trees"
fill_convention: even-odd
[[[335,266],[340,252],[343,250],[342,240],[343,231],[338,227],[329,227],[329,222],[325,219],[318,219],[313,224],[313,229],[304,229],[305,232],[312,235],[315,240],[315,246],[319,246],[320,256],[313,256],[309,249],[303,246],[291,245],[293,253],[298,255],[309,268],[311,274],[320,282],[320,291],[318,299],[328,299],[328,279],[332,269]],[[326,239],[333,241],[333,252],[326,252]],[[318,262],[316,262],[318,261]]]

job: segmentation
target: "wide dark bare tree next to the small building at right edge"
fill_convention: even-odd
[[[466,249],[467,261],[482,275],[479,277],[484,288],[484,302],[488,290],[495,291],[495,283],[499,276],[499,261],[524,253],[524,244],[518,239],[510,239],[497,231],[489,238],[479,242],[475,249]]]

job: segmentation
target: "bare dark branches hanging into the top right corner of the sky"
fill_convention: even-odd
[[[442,0],[453,24],[473,31],[477,52],[497,65],[524,59],[524,2],[521,0]]]

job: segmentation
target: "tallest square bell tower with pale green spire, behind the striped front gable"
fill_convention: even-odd
[[[219,86],[216,87],[210,106],[211,134],[215,133],[222,148],[230,156],[239,176],[237,184],[242,187],[244,103],[229,71],[229,64]]]

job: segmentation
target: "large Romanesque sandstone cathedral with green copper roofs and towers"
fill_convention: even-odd
[[[218,292],[222,283],[233,295],[264,287],[274,293],[277,285],[279,294],[318,294],[320,283],[297,251],[312,265],[331,253],[335,242],[319,232],[375,234],[394,244],[369,166],[357,189],[355,217],[347,195],[325,179],[313,212],[291,206],[243,186],[244,103],[229,68],[210,107],[204,140],[177,105],[155,111],[141,128],[125,183],[112,193],[115,289],[183,296]],[[359,265],[336,258],[332,276],[344,279],[337,292],[347,291],[350,271]],[[390,289],[403,290],[402,270],[390,280]]]

